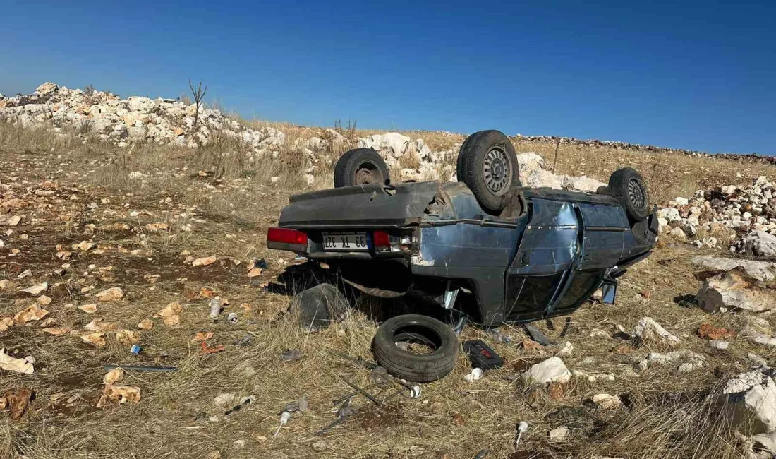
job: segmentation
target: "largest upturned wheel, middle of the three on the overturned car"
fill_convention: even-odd
[[[508,137],[480,130],[463,141],[456,174],[485,210],[500,212],[518,194],[518,157]]]

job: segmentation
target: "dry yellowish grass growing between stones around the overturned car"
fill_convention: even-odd
[[[288,144],[323,135],[318,128],[284,125],[282,130]],[[462,141],[462,136],[450,134],[407,135],[424,137],[435,151]],[[332,160],[350,146],[348,142],[330,152]],[[548,163],[553,162],[554,145],[517,146],[518,151],[537,151]],[[275,282],[287,266],[296,263],[286,252],[266,249],[264,238],[287,197],[308,189],[303,169],[309,164],[292,148],[282,151],[280,160],[267,157],[255,162],[248,162],[240,150],[240,145],[228,140],[213,141],[198,151],[147,144],[131,149],[99,143],[81,145],[74,137],[52,137],[45,131],[13,133],[7,126],[0,127],[3,183],[12,185],[32,204],[22,210],[26,216],[23,224],[4,238],[0,279],[26,286],[32,280],[18,280],[16,275],[29,268],[36,280],[66,284],[68,288],[52,288],[47,293],[54,298],[47,309],[57,326],[77,330],[94,318],[67,306],[93,301],[80,293],[84,285],[94,285],[93,291],[123,288],[125,301],[99,304],[96,314],[119,323],[120,328],[135,329],[137,322],[150,318],[171,301],[184,306],[182,325],[168,327],[157,321],[154,329],[142,332],[145,353],[140,356],[133,356],[129,346],[117,343],[112,333],[106,347],[96,348],[81,343],[78,336],[43,335],[34,322],[0,332],[2,346],[19,355],[32,354],[38,361],[32,375],[0,373],[0,389],[26,386],[36,391],[36,399],[22,421],[13,422],[0,414],[0,457],[176,458],[206,457],[220,451],[228,458],[425,458],[448,450],[451,457],[468,459],[485,447],[490,449],[487,457],[514,459],[732,458],[743,454],[743,444],[725,422],[715,419],[705,391],[714,388],[725,375],[746,370],[747,353],[760,353],[771,360],[776,353],[757,348],[745,339],[734,339],[729,353],[716,352],[695,336],[703,322],[740,329],[742,318],[707,315],[695,307],[688,298],[695,294],[699,282],[688,259],[698,251],[669,245],[660,245],[650,259],[622,279],[617,305],[590,303],[571,316],[573,325],[566,339],[575,350],[564,358],[567,366],[591,374],[611,373],[615,381],[575,379],[566,385],[562,398],[549,400],[546,388],[533,394],[533,389],[523,387],[519,378],[512,380],[521,374],[520,362],[546,358],[557,348],[550,346],[540,354],[518,344],[494,343],[508,362],[504,369],[469,384],[462,381],[469,367],[461,358],[449,377],[424,384],[420,400],[394,397],[376,407],[365,398],[354,398],[359,413],[321,437],[327,443],[326,450],[314,451],[311,433],[334,419],[332,400],[350,391],[343,380],[362,387],[371,382],[368,370],[335,358],[328,351],[372,360],[369,348],[376,320],[367,311],[354,310],[345,321],[322,332],[302,332],[284,314],[289,297],[282,291],[293,290],[293,283],[267,290],[245,276],[248,260],[253,257],[265,259],[269,265],[260,282]],[[632,165],[650,183],[653,200],[690,193],[696,186],[710,183],[740,182],[736,172],[744,177],[771,175],[770,169],[759,165],[593,148],[565,150],[563,146],[557,163],[558,172],[586,173],[598,179],[605,179],[618,167]],[[667,178],[665,171],[669,169],[674,169],[676,179]],[[130,179],[130,172],[141,172],[143,176]],[[319,165],[316,173],[313,188],[329,186],[331,165]],[[11,182],[11,176],[19,180]],[[272,177],[279,179],[273,183]],[[23,179],[28,181],[24,185]],[[57,195],[34,195],[43,179],[61,184]],[[68,191],[68,187],[76,191]],[[78,200],[68,197],[73,194]],[[92,202],[99,208],[89,210]],[[130,214],[133,210],[137,211],[134,216]],[[61,218],[65,214],[71,216],[69,221]],[[153,222],[168,223],[171,230],[148,231],[146,224]],[[193,222],[191,232],[184,231],[185,222]],[[130,224],[134,229],[100,229],[113,223]],[[93,233],[88,224],[95,225]],[[68,262],[71,267],[64,278],[52,276],[50,273],[63,263],[54,256],[54,247],[84,239],[114,249],[102,255],[77,252]],[[140,252],[118,252],[118,245]],[[9,249],[22,252],[10,256]],[[184,250],[192,256],[217,256],[220,262],[193,268],[183,263]],[[234,263],[235,259],[240,265]],[[107,277],[99,272],[105,266],[113,266]],[[144,278],[146,274],[160,277],[150,283]],[[240,316],[237,325],[213,323],[207,318],[208,300],[199,296],[203,287],[229,299],[223,315],[236,312]],[[642,294],[645,291],[650,292],[647,299]],[[25,298],[16,304],[20,297],[13,285],[0,291],[0,316],[12,315],[33,301]],[[250,310],[242,308],[243,303],[249,304]],[[633,375],[630,369],[635,356],[666,349],[655,344],[640,349],[626,346],[627,353],[619,354],[611,349],[626,341],[589,337],[592,329],[604,329],[612,335],[617,325],[630,329],[643,316],[655,318],[681,336],[682,349],[708,356],[705,367],[692,374],[677,374],[676,366],[666,365]],[[566,340],[559,339],[563,319],[554,320],[554,329],[548,329],[543,322],[537,326],[553,341]],[[227,350],[201,356],[197,344],[191,342],[200,331],[212,331],[210,346],[223,344]],[[525,339],[514,327],[506,326],[502,331],[515,343]],[[234,346],[247,333],[253,336],[252,343]],[[475,327],[467,327],[462,338],[492,343]],[[299,349],[303,358],[284,363],[280,355],[285,349]],[[102,365],[106,363],[175,365],[178,371],[130,372],[125,382],[140,388],[141,402],[99,410],[94,405],[102,389]],[[224,418],[223,409],[213,405],[213,397],[220,392],[238,397],[254,395],[256,399]],[[625,408],[611,411],[587,404],[587,399],[601,392],[623,395],[629,402]],[[380,399],[384,395],[379,395]],[[310,411],[294,415],[272,439],[279,409],[301,396],[307,396]],[[198,416],[200,413],[205,413],[204,419]],[[465,419],[465,425],[453,422],[456,413]],[[210,422],[207,416],[219,418]],[[521,420],[529,422],[531,429],[515,451],[514,428]],[[557,426],[570,427],[570,440],[549,443],[546,433]],[[244,440],[245,446],[234,447],[235,440]]]

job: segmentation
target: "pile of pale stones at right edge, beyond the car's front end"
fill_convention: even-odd
[[[776,257],[776,184],[759,176],[750,186],[715,186],[690,199],[677,197],[657,211],[660,231],[696,245],[729,248],[754,256]],[[726,245],[715,236],[740,235]]]

